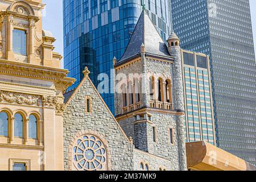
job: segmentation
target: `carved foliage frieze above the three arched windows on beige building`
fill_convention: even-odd
[[[41,106],[42,100],[40,96],[31,96],[22,93],[13,93],[0,90],[0,102],[9,102],[13,104],[27,104]]]

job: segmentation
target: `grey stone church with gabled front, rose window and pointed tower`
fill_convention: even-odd
[[[85,69],[80,85],[65,94],[65,169],[187,169],[181,57],[174,33],[168,44],[143,11],[123,57],[114,59],[116,77],[125,75],[115,81],[116,119]],[[128,78],[130,73],[142,74]]]

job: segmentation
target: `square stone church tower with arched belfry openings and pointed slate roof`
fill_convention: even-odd
[[[179,39],[172,35],[167,47],[142,12],[125,53],[113,61],[115,115],[135,150],[186,170],[181,56]]]

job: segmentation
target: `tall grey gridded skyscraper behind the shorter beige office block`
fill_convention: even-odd
[[[249,0],[172,0],[181,47],[210,55],[217,146],[256,164],[256,67]]]

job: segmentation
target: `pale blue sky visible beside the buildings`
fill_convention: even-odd
[[[61,0],[43,0],[46,3],[46,9],[43,14],[43,28],[49,30],[55,36],[55,52],[63,55],[63,12]],[[250,0],[251,21],[253,24],[254,49],[256,52],[256,1]]]

